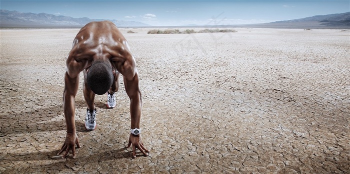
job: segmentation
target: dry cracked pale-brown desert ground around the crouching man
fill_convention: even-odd
[[[88,132],[82,74],[75,99],[82,147],[75,159],[55,158],[65,138],[65,59],[79,29],[0,29],[0,173],[350,173],[349,31],[150,29],[120,28],[136,60],[150,150],[135,159],[124,148],[130,116],[122,80],[116,108],[96,95],[97,129]]]

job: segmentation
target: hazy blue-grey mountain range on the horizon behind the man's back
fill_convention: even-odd
[[[89,19],[87,17],[73,18],[56,16],[46,13],[30,13],[0,10],[0,27],[81,27],[91,21],[104,19]],[[136,21],[110,20],[118,27],[144,27],[148,24]]]

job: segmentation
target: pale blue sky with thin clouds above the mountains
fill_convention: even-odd
[[[153,26],[265,23],[350,11],[349,0],[1,0],[0,8]]]

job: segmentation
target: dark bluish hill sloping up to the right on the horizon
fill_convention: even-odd
[[[350,28],[350,12],[255,24],[275,28]]]

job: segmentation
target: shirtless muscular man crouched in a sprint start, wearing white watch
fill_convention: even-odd
[[[147,156],[149,151],[143,146],[140,135],[141,93],[138,87],[138,74],[126,39],[110,21],[90,22],[80,29],[74,38],[67,61],[64,76],[63,109],[67,126],[65,142],[58,153],[65,158],[69,150],[75,158],[75,145],[80,147],[75,132],[74,111],[75,95],[78,90],[79,74],[83,71],[83,94],[87,105],[85,127],[96,129],[95,94],[107,93],[107,107],[115,107],[115,95],[118,90],[119,73],[123,76],[125,91],[130,98],[131,133],[128,145]]]

